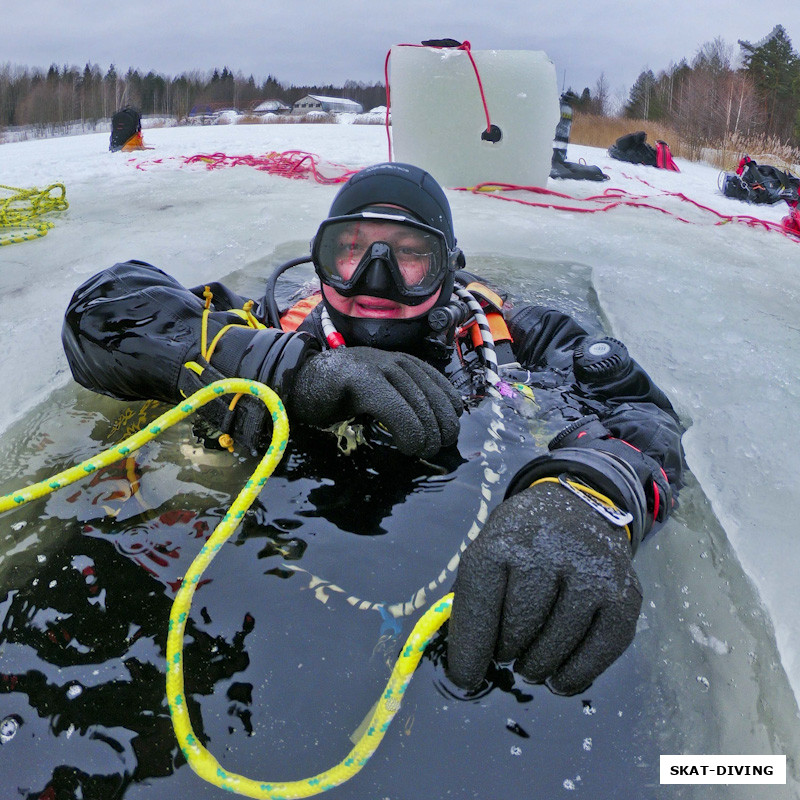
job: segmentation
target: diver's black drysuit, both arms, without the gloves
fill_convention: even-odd
[[[123,400],[176,403],[216,378],[247,377],[273,388],[291,412],[298,368],[325,347],[319,308],[297,332],[256,329],[246,324],[243,298],[220,284],[208,288],[210,294],[204,299],[204,287],[187,289],[156,267],[138,261],[116,264],[87,280],[73,295],[62,332],[75,379],[89,389]],[[206,305],[207,342],[225,326],[232,326],[219,339],[210,366],[204,362],[200,346]],[[251,313],[258,317],[262,312],[255,306]],[[532,390],[536,413],[548,435],[556,438],[549,457],[566,448],[583,463],[586,458],[579,450],[602,451],[616,463],[624,462],[623,468],[629,466],[631,469],[623,469],[628,474],[623,483],[630,483],[630,474],[635,473],[647,504],[647,510],[642,509],[641,538],[669,514],[672,490],[680,483],[681,427],[669,400],[627,356],[621,343],[606,339],[599,347],[599,357],[593,357],[596,338],[568,315],[521,304],[504,307],[503,316],[518,362],[518,367],[506,372],[508,385],[516,383]],[[611,357],[604,358],[609,343]],[[184,366],[187,362],[201,363],[205,369],[198,374]],[[463,382],[469,365],[470,354],[456,352],[442,368],[454,382]],[[214,423],[227,427],[234,439],[237,433],[256,439],[261,436],[262,441],[268,435],[260,403],[240,403],[233,416],[225,401],[214,403],[220,404],[211,412]],[[532,446],[530,458],[541,456],[541,450]],[[597,470],[602,473],[606,465],[598,467],[594,456],[589,462],[584,471],[579,466],[577,472],[596,483]],[[548,467],[551,473],[563,468],[558,459]],[[602,481],[599,488],[608,489]],[[624,495],[614,499],[624,502]],[[634,547],[637,544],[638,539],[633,541]]]

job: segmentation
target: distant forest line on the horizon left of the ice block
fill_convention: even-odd
[[[246,112],[263,100],[286,105],[306,94],[355,100],[365,109],[386,102],[382,83],[347,81],[343,86],[285,85],[270,75],[256,83],[252,75],[234,74],[228,67],[209,73],[184,72],[176,78],[130,68],[119,73],[112,64],[103,73],[97,64],[50,68],[0,66],[0,128],[18,125],[58,130],[74,122],[94,127],[124,106],[142,114],[181,119],[195,107],[233,108]]]

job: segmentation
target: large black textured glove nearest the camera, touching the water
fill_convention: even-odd
[[[642,590],[624,528],[543,482],[501,503],[465,550],[454,586],[448,673],[480,685],[493,658],[576,694],[636,632]]]

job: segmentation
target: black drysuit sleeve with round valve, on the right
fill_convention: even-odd
[[[542,306],[515,309],[507,321],[520,364],[562,376],[584,414],[550,442],[547,455],[520,471],[513,491],[545,475],[584,478],[638,518],[635,547],[666,519],[680,485],[683,431],[672,404],[622,342],[590,336],[571,317]]]

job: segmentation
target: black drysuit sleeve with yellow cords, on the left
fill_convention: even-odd
[[[211,284],[205,299],[202,291],[141,261],[115,264],[87,280],[72,296],[61,335],[75,380],[121,400],[176,403],[223,377],[258,380],[288,397],[297,369],[319,351],[316,340],[260,325],[235,309],[244,300],[220,284]],[[234,416],[225,403],[205,407],[220,428]],[[245,403],[223,432],[260,446],[269,431],[254,418],[259,405]]]

